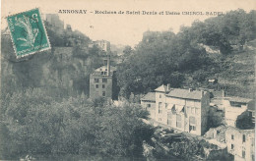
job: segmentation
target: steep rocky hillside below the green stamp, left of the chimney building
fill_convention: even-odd
[[[51,49],[22,59],[15,56],[10,33],[2,30],[1,92],[42,87],[62,96],[88,94],[90,74],[102,62],[100,50],[89,48],[91,39],[77,30],[54,32],[56,28],[45,27]]]

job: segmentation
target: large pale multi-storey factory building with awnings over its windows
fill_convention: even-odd
[[[169,128],[202,135],[207,131],[210,93],[204,90],[170,88],[170,84],[155,89],[155,121]],[[142,99],[142,105],[149,105]],[[154,100],[151,101],[154,106]],[[150,112],[151,113],[151,112]]]

